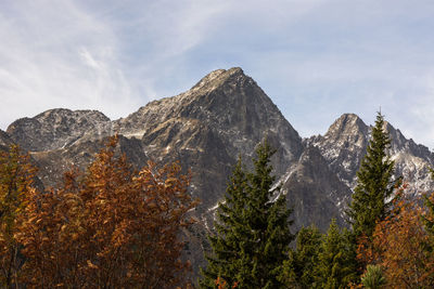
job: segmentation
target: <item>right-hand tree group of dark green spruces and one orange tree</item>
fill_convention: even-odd
[[[239,161],[209,236],[201,288],[434,288],[434,196],[406,196],[406,184],[393,180],[390,145],[378,114],[347,226],[331,220],[324,234],[315,225],[291,232],[267,143],[256,150],[253,172]]]

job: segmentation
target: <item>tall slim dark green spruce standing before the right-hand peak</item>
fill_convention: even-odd
[[[394,161],[387,156],[391,139],[383,127],[384,117],[379,113],[372,128],[372,140],[357,172],[353,201],[346,212],[356,239],[363,235],[371,239],[375,222],[384,220],[391,205],[395,186],[392,182]]]

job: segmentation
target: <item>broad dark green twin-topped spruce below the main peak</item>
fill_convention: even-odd
[[[209,236],[213,254],[202,272],[202,288],[215,288],[219,277],[237,288],[283,287],[278,276],[294,235],[285,196],[280,187],[272,189],[272,154],[267,143],[259,145],[251,173],[238,161],[217,211],[216,234]]]

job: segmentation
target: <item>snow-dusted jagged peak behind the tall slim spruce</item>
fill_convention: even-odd
[[[318,147],[327,159],[329,167],[349,188],[357,184],[356,172],[366,153],[372,127],[367,126],[354,114],[342,115],[324,135],[305,140],[305,144]],[[395,161],[395,178],[403,176],[409,184],[407,194],[414,195],[429,192],[434,182],[429,173],[434,166],[434,154],[423,145],[407,140],[391,123],[384,129],[391,136],[391,158]]]

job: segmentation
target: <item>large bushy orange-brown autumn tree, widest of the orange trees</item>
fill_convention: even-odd
[[[60,188],[31,191],[16,239],[22,281],[36,288],[174,288],[187,284],[179,235],[196,201],[189,175],[173,163],[139,172],[116,157],[113,137],[86,174],[71,171]]]

